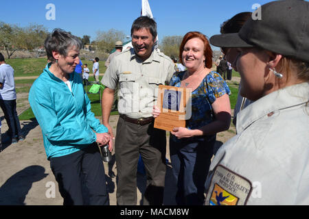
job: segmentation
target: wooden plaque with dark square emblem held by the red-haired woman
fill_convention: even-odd
[[[185,127],[185,107],[190,97],[187,91],[185,88],[159,86],[157,107],[161,113],[155,118],[155,128],[172,131],[175,127]]]

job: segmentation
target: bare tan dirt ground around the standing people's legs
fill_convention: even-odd
[[[237,80],[238,78],[236,78]],[[27,99],[28,93],[17,94],[18,114],[30,107]],[[0,116],[2,140],[5,140],[6,136],[3,133],[8,130],[8,126],[1,110]],[[118,116],[111,116],[110,123],[114,130],[117,126],[117,120]],[[36,120],[28,120],[21,121],[21,128],[25,133],[25,140],[16,144],[3,144],[3,151],[0,153],[0,205],[62,205],[58,185],[50,169],[49,161],[46,159],[40,126],[38,126]],[[235,136],[235,133],[234,127],[218,133],[217,146]],[[166,157],[170,161],[168,148]],[[110,202],[111,205],[116,205],[116,178],[110,176],[111,172],[117,174],[115,159],[109,164],[104,163],[104,168]],[[141,194],[145,189],[146,177],[138,174],[137,178],[139,204]],[[165,176],[165,205],[175,205],[173,199],[175,188],[176,183],[172,177],[172,167],[168,164]]]

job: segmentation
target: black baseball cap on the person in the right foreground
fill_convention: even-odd
[[[260,12],[260,18],[254,14]],[[236,34],[211,36],[216,47],[260,47],[309,62],[309,2],[282,0],[258,8]]]

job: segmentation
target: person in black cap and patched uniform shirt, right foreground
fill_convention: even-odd
[[[211,162],[206,205],[309,205],[309,2],[258,10],[238,33],[210,38],[237,49],[240,94],[255,102]]]

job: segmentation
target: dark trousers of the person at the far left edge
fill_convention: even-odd
[[[0,99],[0,107],[3,111],[6,123],[8,123],[8,133],[12,137],[21,135],[21,125],[19,124],[19,116],[16,112],[16,99],[5,101]]]

